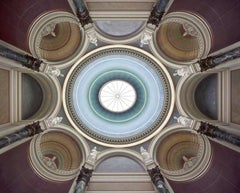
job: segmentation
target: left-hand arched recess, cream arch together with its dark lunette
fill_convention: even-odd
[[[37,73],[21,74],[20,120],[43,120],[57,108],[59,88],[48,76]]]

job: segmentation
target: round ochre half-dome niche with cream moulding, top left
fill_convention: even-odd
[[[42,58],[49,64],[72,63],[81,54],[84,33],[73,14],[53,11],[33,22],[28,44],[34,57]]]

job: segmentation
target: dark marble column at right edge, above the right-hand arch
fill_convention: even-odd
[[[206,71],[208,69],[214,68],[215,66],[222,64],[223,62],[227,62],[240,57],[240,48],[235,48],[226,53],[219,54],[217,56],[209,56],[205,59],[198,61],[201,72]]]

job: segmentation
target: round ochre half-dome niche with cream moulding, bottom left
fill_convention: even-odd
[[[44,132],[34,138],[30,144],[29,155],[37,174],[53,181],[74,178],[83,160],[76,139],[56,130]]]

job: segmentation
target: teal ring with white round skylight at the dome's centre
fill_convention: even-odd
[[[102,93],[102,87],[105,87],[106,84],[111,84],[111,86],[113,86],[112,83],[113,82],[117,83],[116,81],[125,82],[125,87],[126,85],[128,85],[128,87],[132,87],[132,89],[134,90],[134,91],[132,90],[133,93],[136,92],[135,95],[137,97],[135,96],[133,101],[131,101],[131,99],[126,98],[126,96],[131,96],[131,95],[128,95],[129,88],[128,90],[125,91],[126,95],[124,98],[124,102],[128,101],[127,104],[131,104],[132,102],[132,104],[129,106],[131,108],[128,107],[127,111],[117,110],[118,108],[120,109],[120,107],[116,106],[116,102],[114,102],[110,108],[110,106],[105,106],[102,103],[103,101],[99,100],[99,94]],[[121,89],[125,90],[125,87]],[[109,85],[107,88],[110,88]],[[116,95],[117,96],[119,95],[119,98],[120,98],[121,95],[115,91],[116,89],[117,88],[112,88],[112,92],[114,93],[114,98],[116,98]],[[122,94],[125,94],[125,92],[123,92]],[[106,95],[103,95],[103,96],[106,96]],[[93,81],[89,89],[90,107],[99,117],[110,122],[126,122],[135,118],[142,112],[142,110],[146,105],[146,102],[147,102],[147,92],[142,81],[132,73],[124,70],[111,70],[101,74],[100,76],[98,76],[98,78],[95,81]],[[106,105],[109,105],[109,104],[107,103]]]

